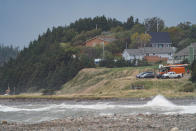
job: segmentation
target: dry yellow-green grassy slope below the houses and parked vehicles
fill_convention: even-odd
[[[154,70],[154,67],[129,68],[91,68],[83,69],[57,94],[78,97],[151,97],[162,94],[167,97],[196,97],[191,93],[179,91],[194,85],[188,78],[182,79],[136,79],[139,72]],[[144,85],[144,89],[133,90],[131,85]]]

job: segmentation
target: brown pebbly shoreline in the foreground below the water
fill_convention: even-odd
[[[7,123],[0,124],[2,131],[88,131],[88,130],[148,130],[148,131],[196,131],[196,114],[137,114],[123,116],[120,114],[108,116],[66,117],[36,124]]]

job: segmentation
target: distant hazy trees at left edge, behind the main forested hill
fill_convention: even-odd
[[[8,62],[10,59],[15,59],[18,54],[18,47],[0,44],[0,66],[3,66],[3,64]]]

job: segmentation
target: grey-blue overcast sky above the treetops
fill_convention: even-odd
[[[105,15],[143,22],[160,17],[166,26],[196,24],[196,0],[0,0],[0,43],[28,46],[47,28],[69,25],[79,18]]]

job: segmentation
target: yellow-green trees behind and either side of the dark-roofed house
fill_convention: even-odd
[[[120,42],[124,43],[124,47],[125,44],[127,44],[129,48],[138,48],[142,47],[142,45],[148,45],[149,40],[141,42],[142,39],[140,38],[144,38],[141,36],[144,33],[157,31],[168,32],[171,37],[172,46],[176,47],[178,51],[185,48],[190,43],[196,42],[196,24],[191,24],[191,22],[188,21],[180,23],[177,26],[166,27],[164,20],[158,17],[152,17],[145,19],[143,23],[134,22],[131,28],[125,27],[126,26],[119,25],[117,27],[113,27],[111,30],[115,32],[116,38],[118,38]]]

